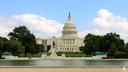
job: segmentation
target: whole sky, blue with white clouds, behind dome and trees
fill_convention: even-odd
[[[39,38],[61,37],[68,13],[78,35],[120,34],[128,42],[128,0],[0,0],[0,36],[25,25]]]

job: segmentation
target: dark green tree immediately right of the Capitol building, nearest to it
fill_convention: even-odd
[[[84,52],[87,54],[95,54],[96,51],[101,51],[100,49],[101,39],[102,39],[102,36],[93,35],[93,34],[88,34],[87,36],[85,36]]]

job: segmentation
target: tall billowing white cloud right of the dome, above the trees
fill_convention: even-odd
[[[87,31],[94,34],[103,35],[109,32],[116,32],[121,35],[125,41],[128,41],[128,18],[120,15],[114,15],[107,9],[100,9],[97,16],[91,20],[92,28]],[[82,34],[82,33],[80,33]]]

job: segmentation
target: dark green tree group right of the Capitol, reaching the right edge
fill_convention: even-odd
[[[108,58],[128,58],[128,43],[125,44],[116,33],[103,36],[89,33],[84,38],[84,44],[80,50],[88,55],[107,54]]]

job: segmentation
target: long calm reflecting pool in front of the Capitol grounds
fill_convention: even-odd
[[[128,67],[128,60],[0,60],[1,67]]]

